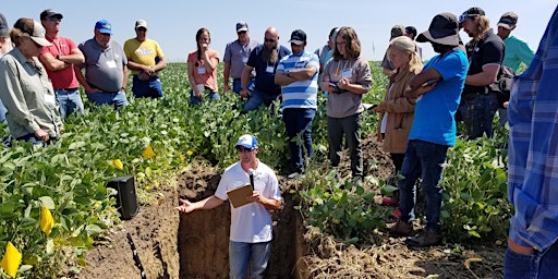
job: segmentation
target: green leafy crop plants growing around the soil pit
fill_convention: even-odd
[[[374,84],[364,100],[374,104],[383,98],[387,78],[378,63],[373,62],[372,69]],[[245,133],[262,143],[259,159],[283,170],[289,150],[278,111],[260,108],[241,114],[243,101],[231,93],[221,94],[219,101],[191,107],[184,63],[169,64],[161,81],[163,99],[130,98],[130,106],[117,113],[111,107],[92,107],[84,98],[85,116],[69,118],[57,143],[0,147],[0,255],[17,258],[13,248],[7,253],[9,243],[21,253],[19,278],[54,278],[62,263],[86,265],[84,251],[119,222],[114,190],[106,186],[114,177],[133,174],[141,201],[149,203],[160,185],[173,184],[189,165],[210,163],[222,170],[238,160],[231,145]],[[292,191],[301,197],[299,208],[308,223],[350,243],[365,243],[364,234],[384,226],[384,216],[373,206],[363,207],[371,203],[365,189],[339,190],[332,178],[320,172],[320,165],[327,165],[325,104],[320,95],[313,124],[316,166],[308,169],[303,186]],[[377,116],[366,113],[363,136],[374,133],[376,125]],[[1,135],[7,136],[3,128]],[[458,140],[449,150],[442,182],[448,241],[505,239],[512,214],[506,196],[506,142],[507,130],[498,128],[493,140]],[[155,156],[144,155],[148,146]],[[367,182],[386,192],[393,190],[374,178]],[[0,277],[9,278],[5,270]]]

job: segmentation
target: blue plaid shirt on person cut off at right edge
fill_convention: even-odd
[[[514,78],[508,198],[510,238],[544,251],[558,239],[558,8],[527,70]]]

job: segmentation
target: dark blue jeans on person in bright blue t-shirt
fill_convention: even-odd
[[[440,210],[442,189],[439,185],[447,158],[448,146],[420,140],[409,141],[399,181],[400,219],[414,220],[416,179],[423,178],[422,189],[426,199],[426,229],[441,233]]]

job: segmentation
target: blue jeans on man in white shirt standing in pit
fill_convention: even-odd
[[[252,266],[250,278],[264,278],[271,242],[245,243],[229,241],[229,276],[231,279],[245,279],[248,263]]]

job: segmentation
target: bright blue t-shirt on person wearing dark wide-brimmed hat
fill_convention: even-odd
[[[465,83],[469,61],[461,50],[451,50],[432,58],[424,70],[434,68],[441,75],[436,86],[420,96],[409,140],[456,145],[456,111]]]

